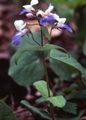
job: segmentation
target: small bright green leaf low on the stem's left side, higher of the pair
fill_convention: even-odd
[[[47,98],[49,96],[47,83],[45,81],[41,80],[35,82],[33,85],[36,87],[36,89],[41,93],[43,97]],[[51,90],[50,90],[50,94],[51,96],[53,95]]]

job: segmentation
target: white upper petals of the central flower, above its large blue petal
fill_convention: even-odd
[[[51,4],[49,4],[49,7],[48,7],[48,9],[47,10],[45,10],[45,12],[44,11],[42,11],[42,10],[38,10],[38,12],[37,12],[37,16],[38,15],[41,15],[41,16],[48,16],[48,15],[51,15],[52,13],[51,13],[51,11],[54,9],[54,6],[53,5],[51,5]]]

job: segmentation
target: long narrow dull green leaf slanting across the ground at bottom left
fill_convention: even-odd
[[[27,107],[33,114],[36,114],[36,116],[38,115],[38,116],[41,116],[44,119],[51,120],[47,111],[42,110],[42,109],[38,109],[38,108],[30,105],[29,102],[27,102],[25,100],[22,100],[21,104],[23,104],[25,107]]]

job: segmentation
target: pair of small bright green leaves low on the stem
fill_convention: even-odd
[[[38,81],[34,83],[36,89],[41,93],[41,95],[45,98],[45,101],[49,101],[55,107],[62,108],[66,104],[66,100],[63,96],[52,96],[52,91],[50,91],[50,96],[48,93],[48,86],[45,81]]]

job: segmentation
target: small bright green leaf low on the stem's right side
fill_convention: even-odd
[[[49,97],[47,100],[55,107],[63,108],[66,104],[66,100],[63,96]]]

